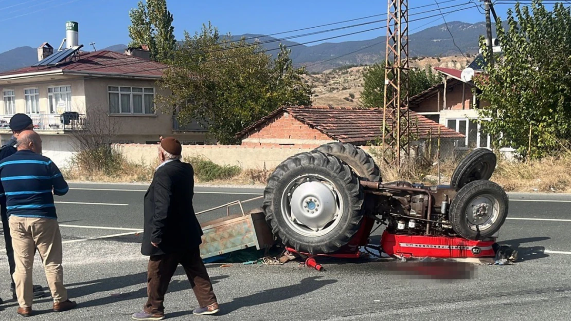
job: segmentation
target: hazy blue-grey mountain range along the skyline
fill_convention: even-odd
[[[379,29],[379,32],[385,32]],[[409,56],[437,57],[451,55],[468,55],[478,52],[478,39],[485,34],[485,23],[448,22],[409,34]],[[375,39],[346,41],[338,43],[320,43],[307,46],[303,43],[272,38],[271,36],[244,34],[233,36],[234,39],[244,37],[248,42],[258,40],[268,53],[276,55],[279,44],[291,48],[291,58],[295,66],[307,66],[310,72],[321,72],[331,68],[349,64],[368,65],[384,59],[386,36]],[[325,38],[326,36],[324,36]],[[104,48],[123,52],[127,46],[116,44]],[[0,72],[31,66],[37,62],[37,50],[32,47],[18,47],[0,53]]]

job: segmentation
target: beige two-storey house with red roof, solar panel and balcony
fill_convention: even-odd
[[[2,142],[11,137],[11,116],[26,113],[43,136],[46,155],[56,157],[58,165],[69,161],[74,133],[96,118],[114,124],[116,143],[156,143],[160,136],[207,143],[206,129],[198,123],[182,126],[172,112],[155,109],[155,97],[168,95],[156,84],[167,66],[148,59],[146,48],[121,54],[81,47],[54,52],[43,43],[38,63],[0,73]]]

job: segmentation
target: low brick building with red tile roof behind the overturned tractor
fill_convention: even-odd
[[[313,148],[331,141],[357,146],[374,143],[382,137],[382,108],[282,106],[236,135],[245,146],[277,147],[293,145]],[[452,148],[464,135],[419,113],[410,112],[411,145],[435,144],[440,130],[441,145]],[[387,126],[391,120],[387,118]],[[434,151],[436,149],[433,149]]]

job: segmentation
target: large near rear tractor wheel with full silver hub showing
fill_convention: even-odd
[[[334,156],[300,153],[268,179],[263,209],[284,245],[309,254],[333,253],[357,233],[364,193],[359,178]]]

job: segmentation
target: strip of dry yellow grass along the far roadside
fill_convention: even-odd
[[[375,155],[375,149],[369,150],[371,155],[380,164]],[[188,160],[187,160],[188,161]],[[440,162],[440,184],[448,184],[459,160],[444,159]],[[195,167],[200,166],[196,160],[190,160]],[[114,174],[106,174],[103,171],[86,173],[81,169],[63,169],[67,180],[70,181],[95,181],[95,182],[142,182],[149,183],[152,180],[154,170],[159,162],[144,165],[131,162],[123,162],[120,169]],[[211,166],[211,165],[210,165]],[[202,185],[258,185],[265,186],[274,169],[250,168],[240,169],[232,177],[224,179],[195,177],[196,184]],[[399,173],[395,168],[383,166],[383,181],[405,180],[426,185],[438,184],[438,170],[436,162],[411,162],[403,164]],[[510,162],[498,157],[497,168],[490,179],[500,184],[506,192],[546,192],[546,193],[571,193],[571,152],[558,157],[546,157],[542,160],[525,162]]]

